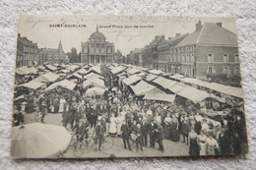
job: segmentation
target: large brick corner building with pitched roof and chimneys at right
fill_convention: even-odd
[[[180,74],[206,79],[208,74],[239,75],[237,36],[222,27],[222,23],[199,21],[196,29],[172,49],[180,60]],[[174,62],[173,60],[173,62]]]

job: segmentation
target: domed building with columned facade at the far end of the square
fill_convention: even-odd
[[[96,31],[86,42],[81,43],[81,63],[112,63],[114,61],[114,44],[106,41],[103,33]]]

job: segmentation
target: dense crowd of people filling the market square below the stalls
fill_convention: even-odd
[[[131,142],[135,142],[137,151],[153,147],[164,152],[168,145],[163,145],[163,140],[169,140],[188,144],[191,156],[245,152],[247,137],[242,106],[224,108],[221,121],[216,123],[204,114],[207,109],[192,102],[179,105],[178,101],[137,97],[106,66],[101,66],[101,76],[106,86],[102,96],[85,96],[84,88],[34,92],[36,102],[30,107],[35,107],[37,120],[43,123],[47,113],[62,113],[63,126],[70,126],[79,142],[88,139],[89,129],[94,128],[98,150],[103,136],[110,136],[122,139],[124,149],[131,151]],[[16,126],[25,123],[25,112],[26,108],[21,106],[14,114]]]

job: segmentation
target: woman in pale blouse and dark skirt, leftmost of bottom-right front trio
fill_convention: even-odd
[[[197,133],[194,129],[188,134],[188,144],[189,144],[189,155],[198,156],[199,155],[199,145],[197,143]]]

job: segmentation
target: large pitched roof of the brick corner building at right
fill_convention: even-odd
[[[214,23],[205,23],[199,31],[193,31],[175,47],[192,44],[237,46],[237,36]]]

